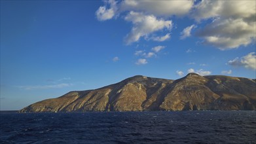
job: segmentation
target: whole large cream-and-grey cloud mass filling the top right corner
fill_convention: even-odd
[[[255,40],[255,1],[201,1],[194,6],[192,17],[213,21],[196,35],[207,45],[221,50],[247,46]]]

